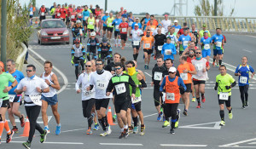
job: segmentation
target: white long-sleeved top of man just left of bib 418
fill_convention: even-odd
[[[87,91],[86,88],[90,86],[90,76],[94,72],[90,72],[89,74],[84,72],[80,74],[79,79],[76,83],[76,91],[79,90],[79,85],[82,83],[82,100],[90,100],[91,98],[95,98],[95,88]]]

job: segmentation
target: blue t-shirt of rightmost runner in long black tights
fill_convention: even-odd
[[[245,86],[247,84],[250,83],[250,76],[249,76],[249,72],[254,72],[253,67],[252,66],[237,66],[236,67],[236,72],[235,73],[240,73],[241,76],[238,77],[238,85],[239,86]],[[241,78],[240,78],[241,77]],[[246,81],[246,83],[241,83],[241,81]]]

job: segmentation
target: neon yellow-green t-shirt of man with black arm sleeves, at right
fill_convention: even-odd
[[[230,75],[226,74],[224,76],[221,76],[221,74],[218,74],[216,76],[216,83],[218,83],[218,95],[220,92],[229,92],[229,95],[231,95],[231,89],[226,89],[225,86],[230,86],[231,83],[234,83],[235,79]]]

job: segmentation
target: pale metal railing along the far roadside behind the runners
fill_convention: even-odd
[[[134,15],[143,19],[145,15]],[[164,16],[155,15],[156,20],[164,20]],[[38,17],[35,17],[38,20]],[[51,19],[51,16],[46,16]],[[179,25],[187,22],[188,26],[195,24],[197,29],[201,29],[203,24],[207,25],[208,30],[215,30],[217,27],[226,32],[256,32],[256,17],[226,17],[226,16],[169,16],[169,19],[178,20]]]

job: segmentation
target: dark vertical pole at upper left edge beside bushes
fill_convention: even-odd
[[[7,23],[7,9],[6,9],[6,0],[2,0],[1,8],[1,61],[3,61],[4,69],[6,70],[6,23]]]

